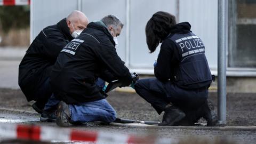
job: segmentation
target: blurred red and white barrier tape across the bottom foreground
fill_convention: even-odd
[[[37,141],[84,141],[93,143],[176,143],[173,139],[135,137],[106,132],[82,131],[59,127],[0,123],[1,139],[26,139]]]

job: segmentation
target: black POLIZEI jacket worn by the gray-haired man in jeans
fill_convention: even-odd
[[[107,72],[102,74],[105,71],[110,76],[106,76]],[[99,22],[91,22],[61,50],[50,79],[55,97],[78,104],[105,98],[95,84],[98,77],[107,82],[121,79],[123,86],[132,82],[130,71],[118,57],[108,29]]]

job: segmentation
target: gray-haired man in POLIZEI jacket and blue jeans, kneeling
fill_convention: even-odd
[[[115,49],[122,28],[118,18],[107,15],[89,23],[81,35],[62,49],[50,77],[54,95],[61,100],[57,125],[115,121],[116,112],[95,81],[100,77],[107,82],[121,79],[123,86],[132,83],[130,71]]]

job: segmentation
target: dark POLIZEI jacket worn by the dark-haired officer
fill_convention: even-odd
[[[155,66],[155,76],[183,89],[210,86],[212,75],[202,40],[190,31],[188,22],[173,26],[164,39]]]

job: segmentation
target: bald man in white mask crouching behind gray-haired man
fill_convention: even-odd
[[[56,25],[44,28],[29,46],[19,65],[19,86],[33,108],[42,113],[52,95],[50,73],[60,51],[76,38],[89,20],[80,11],[71,12]]]

